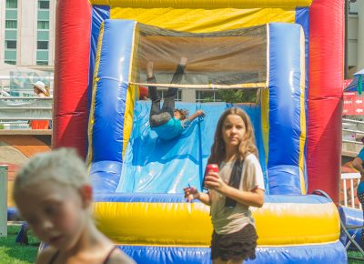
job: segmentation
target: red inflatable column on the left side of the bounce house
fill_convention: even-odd
[[[86,157],[90,30],[88,1],[57,1],[53,147],[76,147],[82,157]]]

